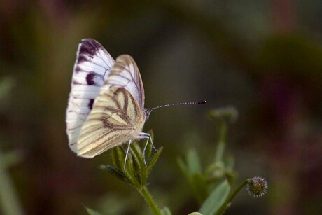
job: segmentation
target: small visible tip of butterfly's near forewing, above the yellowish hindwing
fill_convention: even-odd
[[[116,59],[116,64],[106,83],[106,88],[117,86],[128,90],[139,103],[141,111],[144,112],[144,86],[139,68],[130,55],[120,55]]]

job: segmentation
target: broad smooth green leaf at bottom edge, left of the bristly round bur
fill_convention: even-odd
[[[204,215],[215,214],[220,209],[228,198],[230,192],[230,185],[228,181],[223,181],[214,191],[209,195],[207,200],[202,204],[200,213]]]

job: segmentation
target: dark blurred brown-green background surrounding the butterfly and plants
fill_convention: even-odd
[[[160,207],[199,209],[176,158],[193,147],[207,165],[218,138],[207,112],[229,105],[239,111],[226,152],[237,181],[263,176],[269,191],[254,199],[244,189],[226,214],[320,214],[321,19],[322,1],[0,1],[0,180],[13,186],[14,208],[150,213],[133,188],[99,169],[110,152],[87,160],[68,146],[76,50],[94,38],[115,58],[134,57],[146,107],[208,102],[159,109],[146,122],[164,146],[148,180]]]

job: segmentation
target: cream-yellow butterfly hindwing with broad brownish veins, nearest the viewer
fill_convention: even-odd
[[[93,158],[114,146],[137,139],[144,122],[139,103],[126,88],[102,88],[80,131],[77,153],[84,158]]]

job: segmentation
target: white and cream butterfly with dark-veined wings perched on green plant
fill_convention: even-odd
[[[66,113],[71,150],[93,158],[135,139],[148,143],[150,134],[141,131],[150,113],[144,109],[144,86],[133,58],[121,55],[114,61],[97,41],[83,39]]]

